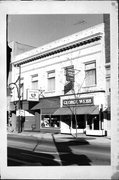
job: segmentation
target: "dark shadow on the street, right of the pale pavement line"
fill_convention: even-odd
[[[67,165],[81,165],[81,166],[87,166],[91,165],[91,160],[81,154],[74,154],[70,148],[70,146],[77,146],[77,145],[88,145],[88,141],[85,139],[82,139],[81,141],[77,141],[76,139],[73,139],[71,141],[67,142],[56,142],[54,135],[52,134],[54,144],[57,148],[57,151],[59,153],[59,157],[61,159],[61,163],[63,166]]]

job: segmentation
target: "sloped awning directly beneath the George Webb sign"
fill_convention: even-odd
[[[61,107],[54,115],[99,114],[99,106]]]

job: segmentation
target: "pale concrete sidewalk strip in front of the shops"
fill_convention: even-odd
[[[44,140],[51,140],[53,137],[56,141],[72,141],[72,140],[87,140],[91,143],[111,143],[111,139],[108,137],[99,136],[86,136],[85,134],[77,134],[77,139],[75,134],[56,134],[56,133],[43,133],[43,132],[8,132],[8,134],[18,135],[18,136],[31,136],[36,138],[42,138]]]

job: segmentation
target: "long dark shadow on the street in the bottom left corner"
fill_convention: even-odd
[[[60,166],[53,155],[8,147],[8,166]]]

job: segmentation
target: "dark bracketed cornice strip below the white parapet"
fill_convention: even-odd
[[[45,57],[48,57],[48,56],[51,56],[51,55],[54,55],[54,54],[58,54],[58,53],[68,51],[68,50],[71,50],[71,49],[74,49],[74,48],[77,48],[77,47],[80,47],[80,46],[83,46],[83,45],[86,45],[86,44],[90,44],[90,43],[93,43],[95,41],[100,40],[101,37],[102,37],[101,35],[98,35],[96,37],[92,37],[92,38],[87,39],[87,40],[83,40],[83,41],[80,41],[80,42],[75,42],[73,44],[70,44],[70,45],[67,45],[67,46],[64,46],[64,47],[62,46],[62,47],[60,47],[58,49],[50,50],[49,52],[44,52],[44,53],[42,53],[40,55],[37,55],[36,57],[31,57],[29,59],[24,59],[24,60],[19,61],[19,62],[14,62],[14,66],[20,66],[20,65],[23,65],[23,64],[38,60],[38,59],[42,59],[42,58],[45,58]]]

